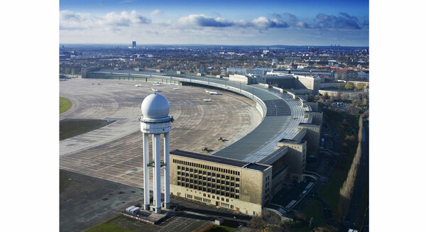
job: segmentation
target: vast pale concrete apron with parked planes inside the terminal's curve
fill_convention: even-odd
[[[142,116],[143,99],[153,93],[151,88],[158,89],[170,102],[170,116],[175,119],[170,150],[211,155],[240,140],[262,121],[255,101],[231,92],[214,95],[201,87],[70,79],[60,82],[60,96],[72,102],[71,108],[60,114],[60,120],[105,119],[114,123],[61,140],[60,169],[143,187],[143,143],[138,118]],[[219,140],[221,137],[223,140]],[[203,148],[208,148],[208,152]]]

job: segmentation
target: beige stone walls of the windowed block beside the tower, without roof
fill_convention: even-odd
[[[198,165],[208,165],[210,167],[232,170],[239,172],[240,175],[232,175],[229,173],[202,169],[190,165],[182,165],[177,163],[177,160],[180,160],[180,162],[192,162]],[[178,169],[178,166],[180,166],[180,169]],[[182,167],[185,168],[185,170],[182,171]],[[186,171],[186,168],[188,168],[189,171]],[[194,170],[194,172],[190,172],[191,169]],[[200,175],[199,173],[195,173],[195,170],[201,170],[202,172],[205,171],[207,173],[210,172],[212,174],[214,173],[216,177],[213,177],[212,175]],[[180,175],[178,175],[178,172],[180,172]],[[184,176],[182,176],[182,172],[185,173]],[[195,175],[197,175],[197,178],[202,176],[202,179],[196,179]],[[221,177],[218,178],[217,175],[220,175]],[[224,175],[225,178],[222,178],[222,175]],[[253,212],[255,212],[255,214],[262,214],[264,197],[266,196],[266,193],[268,193],[266,190],[270,189],[268,188],[269,184],[266,186],[266,183],[271,181],[271,175],[271,167],[264,171],[259,171],[244,167],[224,165],[217,162],[184,158],[170,154],[170,194],[195,201],[202,201],[214,206],[222,206],[226,209],[241,211],[244,214],[253,215]],[[229,179],[226,179],[226,176],[228,176]],[[178,180],[178,177],[180,177],[180,180]],[[234,180],[231,180],[231,177],[234,177]],[[185,178],[185,181],[182,181],[182,178]],[[218,184],[217,182],[212,182],[212,180],[208,181],[208,178],[215,180],[219,179],[221,183]],[[237,181],[237,178],[239,178],[239,181]],[[193,179],[194,181],[197,180],[197,182],[201,181],[202,183],[205,183],[205,186],[202,184],[197,184],[197,186],[201,186],[206,191],[203,189],[194,189],[193,187],[195,187],[195,183],[186,182],[186,179]],[[222,181],[224,181],[224,184],[222,184]],[[180,184],[178,184],[179,182]],[[226,184],[226,182],[229,182],[229,184]],[[193,187],[182,186],[182,183],[188,184],[188,186],[192,184]],[[233,183],[234,186],[232,186],[231,183]],[[208,187],[207,184],[211,184],[211,187]],[[215,188],[215,193],[212,191],[209,192],[208,189],[213,189],[212,184],[215,184],[216,187],[217,185],[220,186],[219,194],[217,194],[217,188]],[[224,189],[222,189],[222,187],[224,187]],[[229,188],[229,190],[226,191],[226,188]],[[234,189],[234,192],[231,192],[231,189]],[[225,194],[222,195],[222,192]],[[226,196],[226,194],[229,194],[229,196]],[[234,197],[231,197],[231,194],[234,194]],[[239,196],[238,199],[236,199],[236,195]]]

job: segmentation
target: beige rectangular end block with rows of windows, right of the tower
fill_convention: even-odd
[[[271,165],[182,150],[170,161],[170,194],[252,215],[271,199]]]

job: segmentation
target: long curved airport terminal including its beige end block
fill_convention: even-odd
[[[262,214],[284,184],[303,178],[307,156],[318,152],[322,113],[317,104],[284,89],[155,71],[87,69],[82,77],[209,87],[256,102],[261,123],[231,145],[212,155],[170,151],[170,194],[178,197]]]

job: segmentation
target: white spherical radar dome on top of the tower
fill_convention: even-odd
[[[150,94],[142,101],[142,114],[147,118],[165,118],[170,111],[170,104],[161,94]]]

